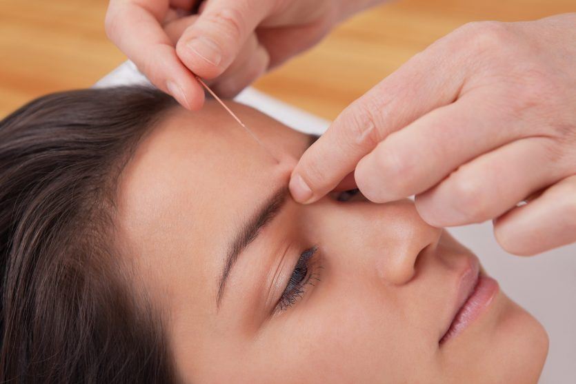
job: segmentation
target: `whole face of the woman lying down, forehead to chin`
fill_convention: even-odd
[[[119,242],[187,383],[537,381],[546,333],[473,254],[409,200],[295,203],[310,138],[232,108],[279,163],[208,101],[171,111],[119,188]]]

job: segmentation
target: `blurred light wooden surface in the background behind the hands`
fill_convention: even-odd
[[[106,39],[103,0],[0,0],[0,117],[48,92],[86,88],[125,58]],[[359,14],[255,84],[333,119],[413,54],[475,20],[576,11],[576,0],[404,0]]]

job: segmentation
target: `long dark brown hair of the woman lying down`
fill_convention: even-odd
[[[0,121],[1,383],[175,383],[163,316],[112,241],[117,178],[173,105],[75,90]]]

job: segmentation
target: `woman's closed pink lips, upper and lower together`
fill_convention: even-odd
[[[474,257],[470,261],[461,275],[454,316],[440,338],[440,344],[446,343],[473,323],[490,305],[499,290],[497,281],[479,271],[478,260]]]

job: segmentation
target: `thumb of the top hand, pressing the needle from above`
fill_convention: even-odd
[[[212,0],[179,39],[179,59],[199,77],[214,79],[236,59],[273,1]]]

